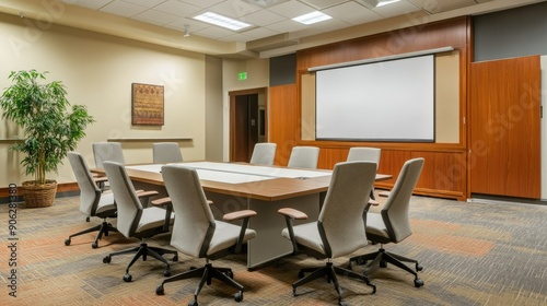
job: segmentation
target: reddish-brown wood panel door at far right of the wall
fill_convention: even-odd
[[[539,57],[472,63],[470,191],[540,198]]]

